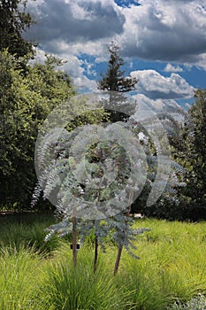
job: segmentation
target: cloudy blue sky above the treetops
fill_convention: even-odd
[[[156,108],[194,102],[206,88],[206,0],[28,0],[36,24],[27,39],[37,60],[51,53],[79,92],[95,92],[114,41],[134,96]]]

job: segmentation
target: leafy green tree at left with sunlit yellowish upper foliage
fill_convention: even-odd
[[[69,76],[57,70],[55,58],[30,66],[27,58],[17,60],[4,50],[0,60],[0,204],[24,209],[29,208],[36,182],[38,130],[50,111],[74,91]]]

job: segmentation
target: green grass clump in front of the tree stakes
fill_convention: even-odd
[[[119,291],[113,276],[103,262],[98,260],[94,274],[93,251],[82,249],[78,253],[76,268],[68,246],[60,252],[61,259],[52,261],[43,271],[43,283],[39,292],[42,296],[40,308],[55,310],[115,310],[126,309],[126,301]],[[123,288],[122,288],[123,289]]]

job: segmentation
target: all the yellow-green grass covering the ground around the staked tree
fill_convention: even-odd
[[[183,309],[180,304],[206,295],[205,222],[137,220],[136,227],[150,229],[135,242],[141,259],[123,252],[116,276],[111,243],[95,275],[92,244],[83,244],[73,269],[67,239],[43,242],[52,222],[0,221],[0,310],[165,310],[177,300]]]

